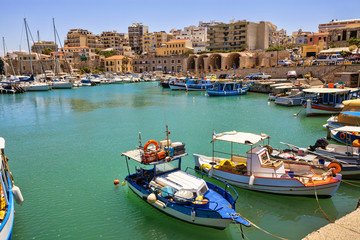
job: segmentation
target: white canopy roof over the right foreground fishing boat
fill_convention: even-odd
[[[259,135],[254,133],[232,131],[232,132],[223,132],[219,134],[214,134],[212,142],[220,140],[225,142],[254,145],[267,138],[269,138],[269,136],[266,134]]]

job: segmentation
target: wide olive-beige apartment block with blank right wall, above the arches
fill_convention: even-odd
[[[235,50],[244,46],[249,50],[269,47],[270,26],[266,22],[232,21],[210,26],[208,46],[210,51]]]

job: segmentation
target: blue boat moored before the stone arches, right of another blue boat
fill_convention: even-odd
[[[213,88],[206,89],[209,96],[236,96],[243,95],[249,91],[250,84],[243,84],[235,81],[219,81],[214,84]]]

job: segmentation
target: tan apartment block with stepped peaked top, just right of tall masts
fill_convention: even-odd
[[[65,47],[103,48],[100,37],[84,29],[70,29],[66,35]]]

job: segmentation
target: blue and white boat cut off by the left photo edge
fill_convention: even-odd
[[[0,239],[11,239],[14,225],[14,199],[22,204],[23,197],[19,187],[14,185],[14,179],[9,171],[8,159],[4,153],[5,139],[0,137]]]

